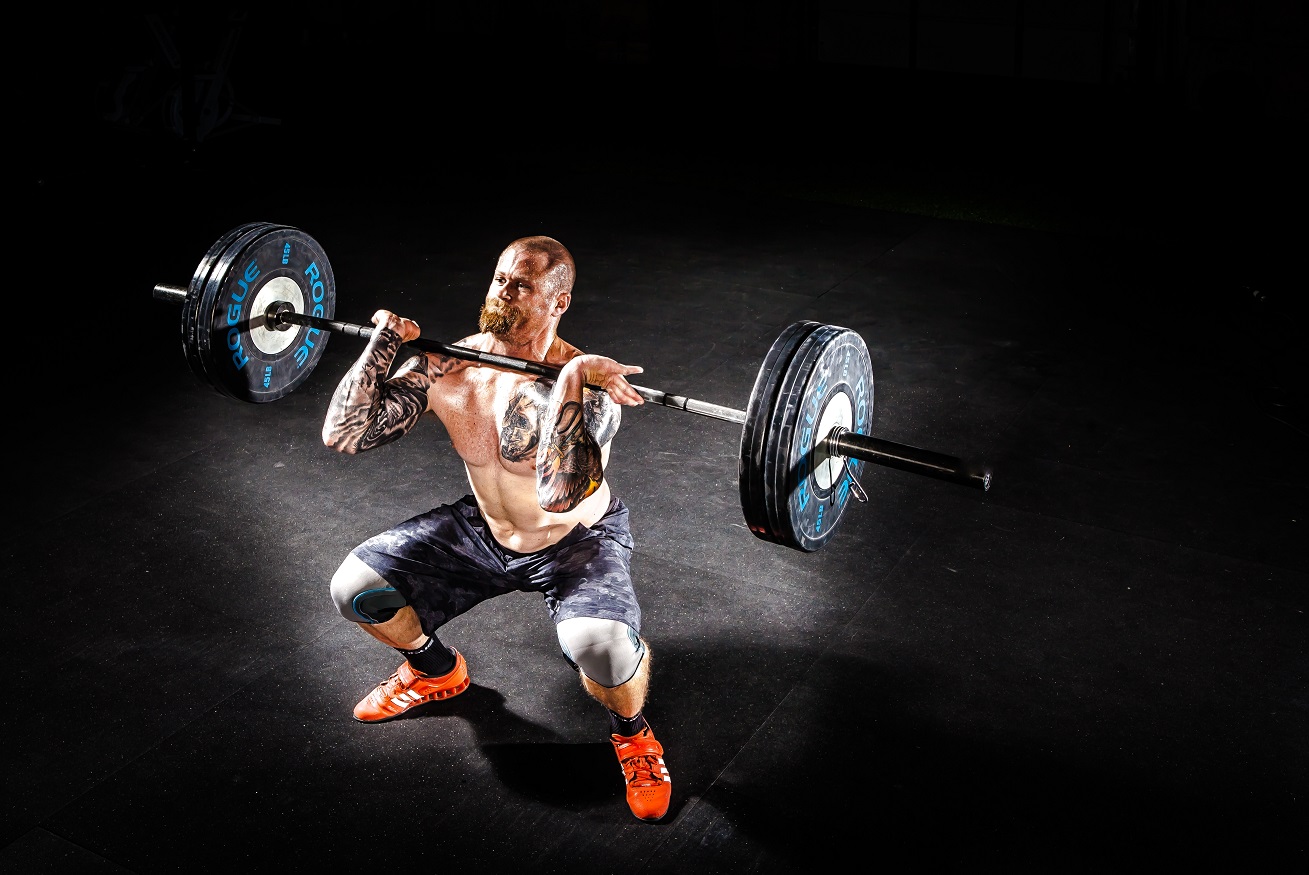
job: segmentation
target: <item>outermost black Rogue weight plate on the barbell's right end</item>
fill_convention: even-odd
[[[764,452],[766,508],[779,544],[813,553],[835,533],[864,462],[829,456],[826,438],[836,426],[867,435],[872,415],[864,339],[838,326],[812,334],[781,381]]]

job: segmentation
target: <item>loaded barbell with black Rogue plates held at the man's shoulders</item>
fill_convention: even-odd
[[[276,401],[298,388],[327,334],[369,338],[367,325],[332,318],[336,287],[326,253],[291,225],[247,223],[223,234],[182,286],[154,286],[182,305],[182,347],[203,384],[237,401]],[[292,330],[295,329],[295,330]],[[559,368],[441,343],[408,342],[479,364],[556,379]],[[594,386],[593,386],[594,388]],[[812,553],[835,533],[869,461],[957,485],[991,487],[991,470],[956,456],[868,435],[873,367],[864,339],[836,325],[798,321],[768,348],[745,410],[645,386],[652,403],[741,426],[737,481],[755,537]]]

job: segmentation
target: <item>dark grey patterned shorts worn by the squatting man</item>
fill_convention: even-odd
[[[632,534],[617,496],[592,527],[573,527],[537,553],[505,550],[466,495],[373,536],[351,553],[395,587],[423,631],[507,592],[539,592],[555,624],[572,617],[618,620],[640,633],[632,589]]]

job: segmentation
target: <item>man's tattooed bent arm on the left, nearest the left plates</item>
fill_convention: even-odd
[[[389,444],[412,428],[427,411],[432,379],[440,376],[436,363],[416,355],[387,379],[395,354],[419,327],[389,310],[378,310],[373,324],[377,330],[336,385],[323,419],[323,443],[342,453]]]

